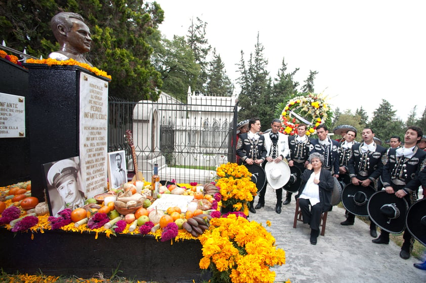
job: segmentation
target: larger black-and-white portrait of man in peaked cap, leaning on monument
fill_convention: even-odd
[[[57,216],[58,212],[66,208],[74,210],[84,206],[86,192],[78,156],[44,164],[43,168],[52,216]]]

